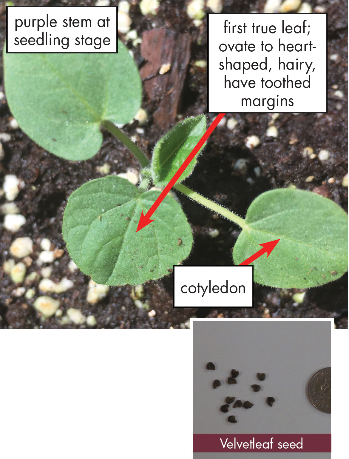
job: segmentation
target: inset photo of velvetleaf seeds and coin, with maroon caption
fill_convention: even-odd
[[[194,319],[194,458],[330,458],[330,319]]]

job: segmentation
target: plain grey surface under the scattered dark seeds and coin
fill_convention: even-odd
[[[194,433],[331,433],[331,415],[309,403],[306,386],[331,366],[330,322],[194,322]],[[207,362],[215,371],[205,368]],[[240,373],[228,385],[230,370]],[[259,381],[256,373],[266,373]],[[212,388],[219,379],[221,386]],[[259,384],[260,392],[253,392]],[[254,403],[250,409],[219,408],[225,398]],[[270,408],[266,397],[276,402]],[[227,416],[238,420],[232,425]]]

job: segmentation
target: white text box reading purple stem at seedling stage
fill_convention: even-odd
[[[75,53],[105,53],[105,52],[116,52],[117,46],[117,24],[116,24],[116,7],[115,6],[103,6],[98,7],[96,6],[83,6],[83,7],[76,7],[76,6],[55,6],[51,7],[48,6],[46,8],[37,7],[37,6],[16,6],[7,8],[7,21],[8,21],[8,29],[7,29],[7,47],[9,52],[24,52],[24,53],[63,53],[63,52],[75,52]],[[24,19],[26,19],[27,24],[29,19],[44,19],[46,21],[46,15],[49,15],[50,19],[55,19],[57,24],[55,27],[37,27],[37,21],[35,22],[36,27],[24,27]],[[72,19],[90,19],[92,27],[69,27],[69,17]],[[99,19],[105,19],[109,17],[109,27],[98,27],[97,22]],[[15,30],[15,20],[22,19],[23,25],[21,28],[17,28]],[[63,19],[67,19],[68,27],[63,27]],[[102,24],[103,22],[100,22]],[[18,22],[19,24],[19,22]],[[105,21],[106,24],[106,21]],[[53,37],[69,37],[69,47],[67,49],[63,49],[60,45],[56,42],[56,45],[51,46],[41,46],[41,45],[14,45],[15,37],[18,37],[20,40],[22,37],[42,37],[42,33],[47,32],[48,37],[51,34],[51,40],[53,43]],[[81,35],[83,34],[84,37],[102,37],[102,45],[100,49],[96,49],[94,45],[81,45]],[[75,45],[75,38],[80,37],[80,45]],[[103,45],[103,38],[109,37],[110,44]],[[66,40],[64,40],[64,43]],[[65,48],[65,46],[64,46]]]

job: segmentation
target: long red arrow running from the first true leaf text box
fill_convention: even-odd
[[[194,146],[192,152],[188,155],[187,159],[183,162],[182,166],[177,170],[176,174],[174,174],[172,179],[168,182],[168,184],[166,185],[165,189],[161,192],[161,195],[157,198],[157,200],[154,202],[154,204],[150,207],[148,212],[144,215],[144,213],[142,211],[141,216],[139,218],[139,222],[138,222],[138,226],[137,226],[137,229],[136,229],[136,233],[140,229],[144,228],[144,226],[147,226],[151,222],[154,221],[154,219],[150,220],[150,217],[153,215],[155,210],[159,207],[159,205],[161,204],[161,202],[164,199],[164,197],[171,190],[172,186],[177,182],[179,177],[183,174],[184,170],[188,167],[188,165],[191,162],[191,160],[198,153],[200,148],[204,145],[205,141],[210,137],[210,135],[212,134],[213,130],[216,128],[217,124],[221,121],[221,119],[223,118],[224,115],[225,115],[225,113],[220,113],[219,115],[216,116],[216,118],[214,119],[214,121],[211,124],[211,126],[207,129],[207,131],[201,137],[201,139],[196,144],[196,146]]]

